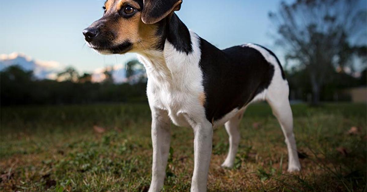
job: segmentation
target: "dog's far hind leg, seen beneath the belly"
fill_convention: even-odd
[[[235,163],[235,157],[240,143],[240,129],[239,124],[243,116],[243,111],[232,117],[228,122],[225,123],[225,128],[229,136],[229,151],[226,160],[222,164],[222,167],[233,167]]]

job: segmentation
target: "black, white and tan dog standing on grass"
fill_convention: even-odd
[[[189,30],[175,11],[182,0],[107,0],[103,17],[83,30],[100,54],[135,52],[148,75],[152,112],[153,168],[149,191],[163,188],[170,126],[192,127],[194,171],[191,191],[207,190],[213,129],[225,125],[232,167],[240,141],[239,123],[247,106],[267,101],[288,149],[288,171],[299,171],[289,87],[275,54],[257,44],[219,50]]]

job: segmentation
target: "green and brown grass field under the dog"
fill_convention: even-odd
[[[233,169],[220,167],[228,136],[214,131],[208,191],[366,191],[366,105],[292,109],[301,172],[286,172],[280,126],[256,104]],[[146,104],[1,108],[0,191],[147,191],[150,120]],[[163,191],[189,191],[192,129],[173,126],[171,146]]]

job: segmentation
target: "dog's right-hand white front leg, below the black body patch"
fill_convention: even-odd
[[[207,191],[208,171],[212,151],[213,127],[209,122],[199,123],[194,129],[194,173],[191,182],[192,192]]]

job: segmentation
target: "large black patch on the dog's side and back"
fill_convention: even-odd
[[[200,40],[204,107],[210,122],[242,108],[269,87],[274,66],[258,50],[241,46],[219,50],[206,40]]]

